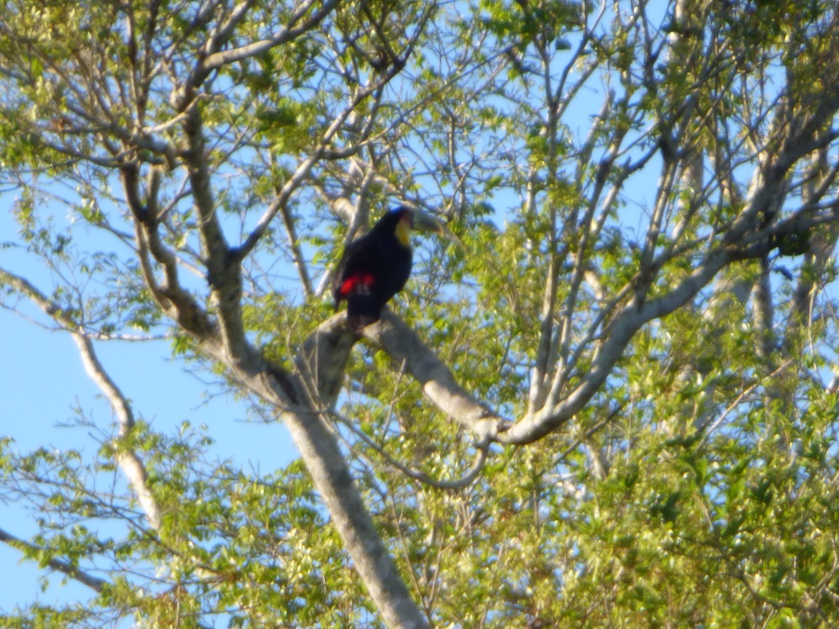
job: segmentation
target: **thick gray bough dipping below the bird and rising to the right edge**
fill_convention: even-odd
[[[836,107],[839,107],[839,99]],[[821,116],[827,112],[820,109]],[[818,125],[808,124],[808,133],[816,133]],[[716,247],[712,247],[693,272],[673,289],[655,298],[645,300],[647,292],[636,293],[636,299],[624,305],[611,322],[607,324],[607,335],[597,348],[591,367],[581,382],[559,403],[545,405],[536,413],[528,413],[510,427],[505,427],[498,418],[458,385],[448,367],[435,356],[419,337],[404,325],[395,315],[385,312],[382,321],[368,326],[364,335],[382,346],[388,355],[409,372],[423,387],[426,397],[456,421],[472,429],[481,439],[498,440],[508,444],[525,444],[544,437],[565,424],[578,413],[606,382],[633,336],[651,320],[659,319],[680,308],[699,294],[711,280],[728,264],[764,255],[768,242],[776,232],[789,229],[784,223],[760,228],[754,217],[758,216],[778,194],[789,169],[809,151],[821,148],[835,132],[822,134],[819,138],[799,137],[800,142],[785,143],[784,148],[762,171],[762,178],[754,190],[750,202],[743,208],[722,236]],[[828,139],[826,139],[828,138]],[[802,217],[803,218],[803,217]],[[667,254],[670,255],[670,254]],[[650,263],[660,268],[662,259]],[[645,283],[652,277],[644,278]],[[494,418],[487,422],[487,417]]]

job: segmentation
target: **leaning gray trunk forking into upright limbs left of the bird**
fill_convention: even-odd
[[[203,353],[227,366],[242,387],[256,393],[284,418],[332,522],[383,620],[388,626],[421,627],[427,625],[427,620],[411,600],[393,559],[376,531],[361,493],[352,481],[335,436],[326,424],[325,413],[340,389],[343,367],[354,336],[338,327],[337,319],[327,321],[311,335],[299,352],[295,360],[296,373],[289,373],[263,359],[258,348],[248,341],[242,322],[242,259],[256,247],[274,217],[285,210],[290,195],[321,159],[332,136],[357,104],[381,89],[400,66],[394,65],[378,81],[357,93],[327,128],[320,150],[300,163],[257,226],[237,247],[227,242],[216,214],[211,172],[205,159],[201,114],[195,107],[195,94],[213,68],[293,39],[319,23],[335,5],[328,3],[304,19],[303,16],[310,12],[311,3],[301,4],[289,18],[288,28],[274,38],[239,49],[223,49],[237,20],[248,10],[249,5],[242,3],[207,40],[204,55],[201,55],[192,74],[176,86],[171,96],[175,107],[184,114],[181,127],[185,132],[186,146],[181,153],[185,156],[190,191],[200,217],[199,231],[211,285],[213,316],[181,286],[174,263],[175,254],[159,238],[158,217],[149,211],[157,205],[154,186],[147,186],[143,194],[133,164],[123,166],[122,183],[137,226],[137,248],[144,276],[161,308],[197,341]],[[298,22],[301,25],[295,26]],[[155,268],[164,269],[164,283],[159,283]]]

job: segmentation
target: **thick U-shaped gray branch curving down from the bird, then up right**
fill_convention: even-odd
[[[774,237],[839,220],[839,205],[835,199],[830,200],[818,214],[808,211],[808,205],[804,205],[785,221],[763,226],[757,220],[762,212],[778,202],[793,165],[839,137],[836,129],[828,127],[823,130],[836,115],[837,108],[839,96],[826,95],[820,107],[816,107],[800,123],[798,133],[788,138],[771,162],[763,164],[751,198],[727,226],[722,237],[696,263],[693,272],[654,299],[647,296],[654,274],[676,252],[655,252],[653,247],[649,247],[647,262],[638,271],[632,298],[615,310],[602,330],[602,335],[591,348],[591,366],[585,373],[579,374],[576,386],[563,392],[555,403],[551,403],[549,398],[545,406],[516,419],[512,425],[504,424],[487,410],[486,405],[459,387],[448,367],[392,314],[385,315],[382,322],[367,328],[365,335],[383,346],[397,364],[404,366],[405,371],[420,382],[430,401],[456,421],[469,426],[479,439],[488,437],[509,444],[540,439],[559,429],[591,400],[642,326],[687,304],[728,265],[763,257],[767,252],[766,243]],[[658,229],[655,220],[651,221],[650,229]]]

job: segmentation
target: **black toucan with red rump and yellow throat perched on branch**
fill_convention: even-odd
[[[411,274],[412,231],[435,231],[455,238],[433,216],[399,205],[347,245],[332,281],[332,294],[336,309],[347,299],[350,330],[360,332],[378,321],[384,304],[404,288]]]

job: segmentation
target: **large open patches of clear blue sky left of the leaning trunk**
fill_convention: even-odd
[[[13,239],[16,226],[10,216],[11,195],[0,195],[0,242]],[[14,249],[0,248],[0,267],[24,274],[38,283],[44,272]],[[47,285],[40,288],[49,289]],[[30,315],[37,309],[21,303]],[[86,429],[61,427],[76,418],[74,408],[89,413],[97,426],[108,430],[113,423],[110,406],[87,377],[70,335],[47,330],[8,309],[0,309],[0,436],[15,440],[15,448],[29,452],[40,446],[56,450],[77,449],[93,455],[96,440]],[[248,421],[245,403],[231,395],[208,396],[205,382],[185,372],[179,360],[170,357],[168,341],[109,341],[96,344],[96,352],[128,398],[138,417],[154,429],[172,434],[183,421],[206,424],[215,439],[212,454],[241,465],[259,464],[268,471],[296,457],[286,429],[279,422]],[[0,528],[18,537],[35,533],[31,514],[0,502]],[[62,575],[50,577],[50,587],[41,592],[34,564],[21,563],[21,554],[0,543],[0,612],[39,600],[85,600],[92,592],[82,585],[61,586]]]

